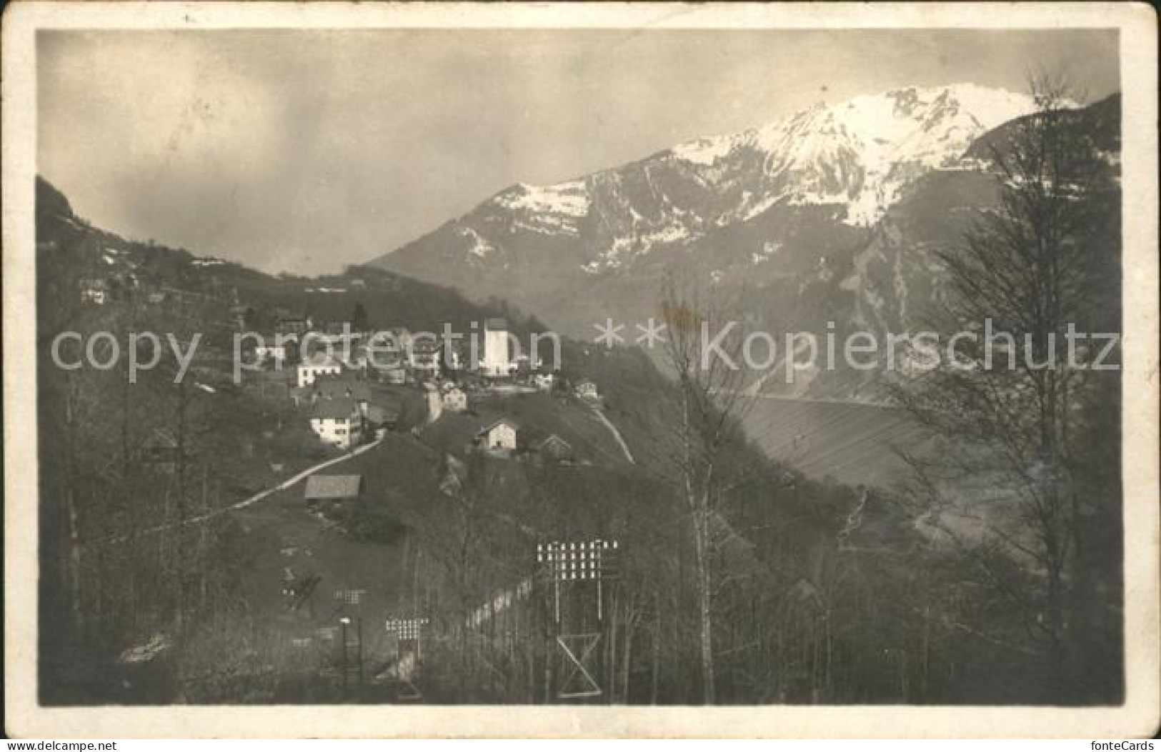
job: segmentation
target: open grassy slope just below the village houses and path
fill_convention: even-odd
[[[454,530],[454,511],[448,507],[453,502],[438,487],[441,461],[447,454],[461,454],[462,444],[476,427],[499,415],[510,417],[541,434],[560,434],[574,446],[579,461],[597,465],[571,470],[580,473],[584,482],[577,483],[582,480],[577,476],[574,483],[560,489],[570,499],[562,506],[579,504],[590,512],[604,505],[618,506],[613,504],[618,493],[615,489],[605,487],[607,478],[601,467],[625,468],[627,462],[607,429],[586,406],[572,398],[547,395],[486,398],[476,403],[471,414],[446,413],[417,436],[388,434],[378,447],[319,475],[361,475],[363,494],[354,504],[372,519],[387,522],[387,530],[397,525],[397,535],[388,532],[376,540],[359,540],[342,532],[333,521],[308,511],[305,482],[230,514],[236,529],[244,536],[248,558],[241,574],[245,621],[250,624],[245,629],[254,630],[257,642],[267,646],[272,670],[297,668],[317,675],[322,666],[333,666],[339,649],[320,637],[320,630],[333,629],[339,623],[342,606],[341,599],[336,596],[339,591],[362,591],[359,606],[347,612],[362,617],[363,664],[368,680],[382,672],[394,658],[394,643],[383,628],[384,620],[412,616],[417,596],[425,598],[427,578],[441,566],[433,561],[417,564],[419,541],[431,547],[433,536],[438,540]],[[522,477],[524,464],[512,460],[493,462],[492,467]],[[507,536],[515,536],[510,543],[522,544],[521,536],[529,532],[520,529],[522,526],[514,519],[504,522],[506,515],[503,513],[512,509],[497,508],[496,512],[498,516],[491,525],[499,525],[500,529],[490,527],[489,535],[502,534],[506,528]],[[550,511],[545,508],[539,513],[550,514]],[[578,519],[586,516],[582,514]],[[308,576],[318,578],[312,595],[298,608],[290,609],[282,593],[284,584],[288,579]],[[338,679],[332,684],[337,685]],[[327,700],[326,695],[313,697]]]

